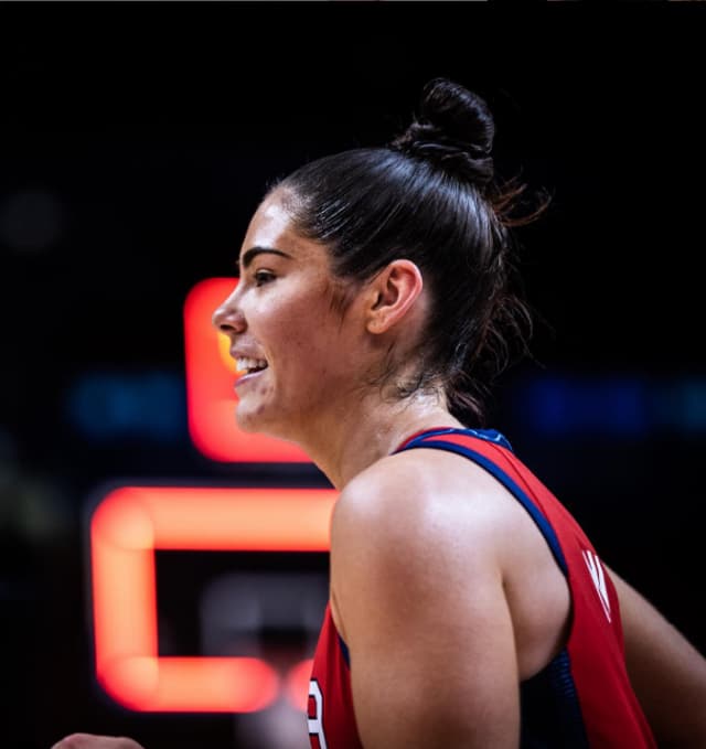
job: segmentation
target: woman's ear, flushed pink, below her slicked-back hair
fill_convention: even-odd
[[[393,260],[371,281],[366,329],[379,335],[399,322],[421,293],[421,271],[411,260]]]

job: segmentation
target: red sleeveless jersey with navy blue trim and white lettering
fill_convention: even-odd
[[[625,670],[616,589],[574,517],[495,430],[425,431],[397,452],[415,448],[456,452],[489,471],[531,515],[566,576],[570,634],[564,650],[520,685],[521,749],[654,749]],[[314,653],[308,723],[312,749],[362,749],[347,648],[330,606]]]

